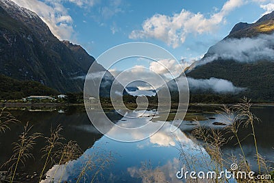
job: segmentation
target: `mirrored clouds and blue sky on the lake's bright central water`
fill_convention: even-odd
[[[141,113],[141,112],[140,112]],[[152,117],[149,117],[150,113],[145,113],[143,116],[140,116],[136,119],[127,119],[122,118],[116,124],[134,127],[135,125],[142,125],[147,123]],[[138,115],[138,114],[136,114]],[[151,160],[153,162],[153,167],[147,171],[147,176],[152,176],[155,178],[159,178],[158,182],[181,182],[177,180],[175,173],[184,167],[186,164],[186,160],[180,159],[179,153],[181,152],[180,149],[184,149],[188,157],[198,156],[200,158],[207,158],[210,160],[210,156],[207,155],[206,150],[203,147],[198,147],[195,143],[192,142],[184,132],[177,129],[175,132],[171,132],[171,123],[169,122],[151,122],[152,125],[163,125],[162,128],[149,136],[149,138],[145,139],[144,141],[138,141],[136,143],[121,143],[119,141],[113,141],[106,136],[103,136],[99,141],[95,143],[93,147],[99,147],[98,155],[101,156],[101,147],[102,144],[105,144],[105,149],[108,151],[112,151],[114,153],[119,154],[116,156],[115,164],[111,167],[111,170],[104,171],[103,175],[105,175],[106,182],[112,177],[116,181],[120,181],[123,179],[121,172],[127,172],[127,176],[130,179],[138,179],[140,178],[139,175],[142,175],[142,167],[140,167],[140,162],[145,162]],[[85,129],[87,127],[87,129]],[[78,127],[81,130],[91,130],[94,131],[94,127],[82,126]],[[136,133],[131,134],[117,134],[119,136],[131,136],[131,138],[140,139],[140,137],[147,136],[147,133],[150,132],[150,129],[145,129],[142,132],[136,131]],[[110,129],[108,133],[116,133],[115,130]],[[119,137],[121,138],[121,137]],[[53,166],[48,172],[49,179],[43,182],[50,182],[51,178],[53,177],[55,171],[55,180],[60,180],[61,182],[69,181],[79,176],[81,172],[81,167],[83,164],[88,161],[88,156],[94,154],[95,148],[87,149],[84,154],[78,159],[69,162],[66,166],[65,165],[55,165]],[[203,151],[203,154],[206,157],[201,157],[199,153]],[[134,157],[134,161],[132,161],[132,157]],[[160,162],[160,166],[157,166]],[[119,164],[123,164],[121,167]],[[60,167],[58,169],[58,167]],[[66,167],[66,168],[64,168]],[[88,172],[92,176],[92,172]],[[94,172],[93,172],[94,173]],[[115,178],[114,178],[115,177]],[[115,182],[114,180],[109,180],[110,182]]]

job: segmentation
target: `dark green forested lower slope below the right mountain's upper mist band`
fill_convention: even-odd
[[[243,96],[253,99],[253,102],[256,103],[273,102],[273,68],[274,62],[270,61],[240,63],[233,60],[216,60],[203,66],[197,66],[196,69],[186,75],[195,79],[216,77],[229,80],[234,86],[247,89],[235,95],[214,95],[210,94],[210,91],[208,93],[197,91],[190,94],[190,102],[235,103]],[[229,98],[231,102],[229,102]]]

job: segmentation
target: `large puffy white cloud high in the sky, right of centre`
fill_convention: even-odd
[[[218,13],[212,14],[208,19],[200,12],[194,14],[184,9],[173,16],[155,14],[142,23],[142,30],[132,31],[129,38],[155,38],[175,48],[184,43],[190,33],[214,32],[220,23],[225,23],[225,16],[242,4],[243,0],[229,0]]]

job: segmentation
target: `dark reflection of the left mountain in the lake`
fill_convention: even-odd
[[[77,108],[69,108],[64,110],[65,113],[58,113],[58,110],[54,112],[28,112],[27,110],[13,110],[12,114],[25,124],[30,121],[30,125],[34,125],[32,132],[41,132],[45,136],[49,136],[51,127],[57,127],[62,125],[62,136],[66,138],[66,141],[76,141],[79,147],[83,151],[86,151],[91,147],[95,141],[101,138],[102,134],[96,130],[96,128],[90,123],[85,111]],[[108,112],[110,119],[119,120],[121,117],[113,112]],[[12,125],[12,130],[0,134],[0,144],[2,148],[0,151],[1,164],[3,160],[10,158],[12,150],[12,143],[18,140],[18,135],[22,132],[22,125]],[[34,158],[29,158],[25,164],[27,173],[33,173],[42,169],[44,161],[40,161],[42,156],[40,149],[45,147],[45,138],[39,138],[37,144],[32,151]],[[31,174],[32,175],[32,174]]]

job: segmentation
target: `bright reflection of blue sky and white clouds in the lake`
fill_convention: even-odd
[[[134,126],[138,121],[142,121],[142,123],[145,121],[143,117],[136,119],[119,121],[117,124]],[[171,133],[170,129],[171,123],[165,123],[159,132],[144,141],[136,143],[123,143],[103,136],[93,145],[93,148],[86,150],[78,160],[69,162],[65,170],[64,166],[62,166],[62,169],[57,171],[55,180],[59,180],[60,176],[64,174],[62,181],[74,181],[73,179],[78,177],[81,167],[83,167],[89,155],[97,151],[103,157],[105,150],[107,150],[113,153],[115,160],[108,169],[103,171],[105,182],[120,182],[121,180],[125,182],[140,182],[140,175],[142,173],[141,162],[149,161],[151,162],[151,175],[157,175],[156,177],[160,178],[160,181],[179,182],[176,180],[175,174],[181,167],[185,167],[184,164],[186,164],[185,160],[179,160],[179,149],[183,148],[188,156],[194,156],[198,154],[198,151],[195,152],[195,149],[197,150],[198,147],[181,130]],[[110,133],[112,133],[112,130],[110,130]],[[132,135],[142,136],[144,134]],[[202,147],[199,147],[200,150],[206,154],[206,151]],[[206,156],[206,159],[209,159],[207,154]],[[156,167],[159,167],[161,171],[159,176],[157,174],[159,171]],[[47,172],[47,175],[52,176],[57,168],[58,166],[55,165]],[[89,174],[92,175],[92,172],[89,172]],[[50,180],[45,182],[50,182]]]

